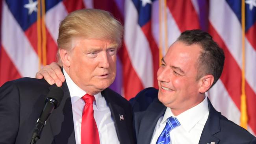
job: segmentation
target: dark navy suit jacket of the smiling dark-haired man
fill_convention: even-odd
[[[134,126],[138,144],[150,144],[156,123],[165,113],[166,107],[159,102],[157,94],[158,90],[147,88],[131,100],[134,107]],[[256,138],[253,135],[217,112],[210,100],[208,100],[208,106],[209,116],[199,144],[211,142],[215,144],[256,144]]]

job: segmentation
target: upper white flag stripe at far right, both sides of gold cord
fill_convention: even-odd
[[[241,24],[226,1],[210,1],[210,21],[241,69]],[[256,71],[254,63],[256,61],[256,51],[247,39],[245,39],[245,47],[245,78],[256,93],[256,75],[254,74]]]

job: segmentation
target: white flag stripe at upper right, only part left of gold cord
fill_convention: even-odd
[[[241,68],[241,24],[225,0],[210,0],[210,22]]]

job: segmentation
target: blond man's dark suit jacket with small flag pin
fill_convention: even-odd
[[[0,144],[29,144],[49,92],[44,79],[21,78],[0,88]],[[63,83],[63,99],[50,115],[37,144],[75,144],[69,89]],[[134,143],[130,103],[110,89],[102,91],[115,122],[121,144]],[[120,115],[124,120],[120,120]]]

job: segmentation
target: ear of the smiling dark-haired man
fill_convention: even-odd
[[[206,76],[203,76],[200,78],[200,87],[199,87],[199,92],[204,93],[207,92],[211,88],[211,85],[213,84],[214,77],[213,75],[209,74]]]

